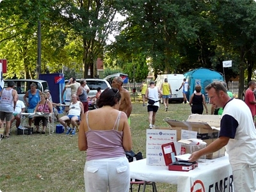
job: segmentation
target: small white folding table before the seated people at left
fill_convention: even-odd
[[[25,119],[28,118],[28,116],[44,116],[48,119],[48,124],[47,124],[47,128],[49,129],[49,134],[53,134],[54,133],[54,113],[21,113],[22,117],[24,116]],[[52,118],[52,120],[50,121],[50,118]],[[24,119],[22,119],[22,127],[24,127]]]

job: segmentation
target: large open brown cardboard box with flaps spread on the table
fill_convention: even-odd
[[[198,138],[209,145],[216,140],[220,131],[220,116],[218,115],[190,115],[186,122],[165,119],[169,127],[156,127],[155,129],[176,130],[177,140]],[[207,159],[215,159],[225,156],[225,147],[206,156]]]

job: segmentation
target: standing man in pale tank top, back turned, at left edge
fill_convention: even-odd
[[[11,127],[11,119],[12,113],[15,109],[17,102],[17,91],[13,89],[15,83],[13,81],[9,81],[7,84],[7,88],[4,88],[0,92],[1,96],[1,105],[0,105],[0,119],[3,122],[4,118],[6,121],[6,138],[9,138],[9,132]],[[3,126],[3,124],[1,125]]]

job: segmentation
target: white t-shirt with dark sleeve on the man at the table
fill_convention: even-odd
[[[228,122],[225,122],[227,119]],[[236,122],[238,126],[232,126]],[[230,164],[232,166],[239,163],[256,164],[255,125],[253,124],[252,113],[243,100],[233,99],[226,104],[221,116],[221,129],[223,130],[220,131],[220,136],[235,132],[234,138],[230,138],[226,145]]]

